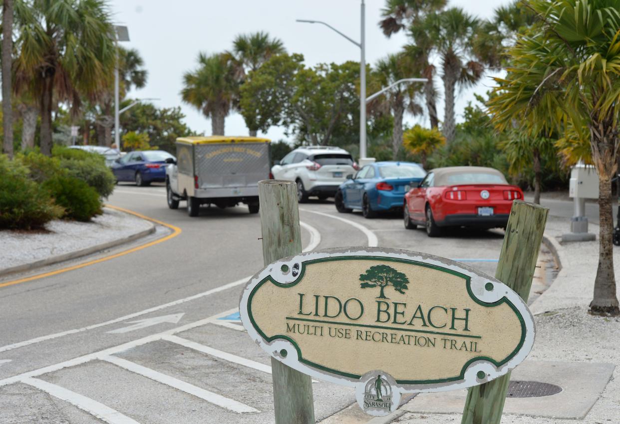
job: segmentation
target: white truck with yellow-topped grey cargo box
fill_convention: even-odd
[[[259,211],[259,181],[270,177],[270,140],[247,136],[177,138],[177,161],[166,167],[170,209],[187,201],[189,216],[200,205],[219,208],[246,203]]]

